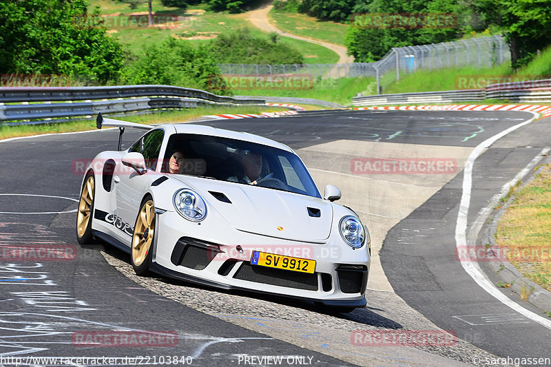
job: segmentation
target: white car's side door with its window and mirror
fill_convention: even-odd
[[[163,145],[165,132],[163,129],[154,129],[142,136],[129,152],[138,152],[145,158],[147,171],[139,174],[131,167],[122,166],[121,173],[114,178],[116,182],[116,223],[120,229],[123,242],[129,244],[134,231],[134,223],[139,206],[145,191],[157,176],[155,169],[159,159],[160,148]]]

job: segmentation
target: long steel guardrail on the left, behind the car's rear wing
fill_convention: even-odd
[[[53,101],[63,102],[52,103]],[[263,98],[217,96],[202,90],[171,85],[8,87],[0,88],[0,121],[87,116],[98,112],[108,114],[158,108],[197,107],[205,104],[264,103]]]

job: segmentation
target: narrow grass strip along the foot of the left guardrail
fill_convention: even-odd
[[[261,112],[287,111],[285,107],[273,106],[242,106],[242,107],[196,107],[189,109],[158,111],[152,114],[126,115],[115,117],[119,120],[133,123],[158,124],[158,123],[184,123],[200,116],[216,114],[260,114]],[[41,134],[53,134],[62,132],[83,132],[96,129],[95,116],[86,120],[70,120],[64,122],[52,122],[41,125],[0,125],[0,140],[17,138],[19,136],[31,136]]]

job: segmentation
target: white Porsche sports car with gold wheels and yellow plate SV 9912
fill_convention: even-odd
[[[97,126],[147,130],[129,149],[87,166],[79,243],[131,254],[138,275],[271,293],[348,312],[366,305],[371,239],[357,214],[320,195],[293,149],[214,127],[141,125],[98,115]]]

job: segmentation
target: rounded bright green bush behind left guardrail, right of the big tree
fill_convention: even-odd
[[[149,45],[130,66],[124,79],[128,84],[165,84],[226,94],[220,70],[206,46],[194,47],[172,37]],[[213,81],[216,81],[214,83]]]

